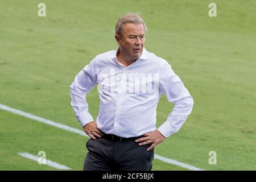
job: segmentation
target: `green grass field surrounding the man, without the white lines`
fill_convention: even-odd
[[[0,2],[0,104],[81,129],[69,85],[94,56],[117,48],[114,26],[140,12],[146,49],[166,59],[183,80],[194,107],[183,127],[155,153],[205,170],[256,170],[256,1]],[[96,119],[97,89],[87,96]],[[172,110],[163,96],[158,126]],[[0,169],[55,170],[22,158],[37,155],[81,170],[88,138],[0,109]],[[209,151],[217,152],[210,165]],[[153,170],[184,170],[155,159]]]

